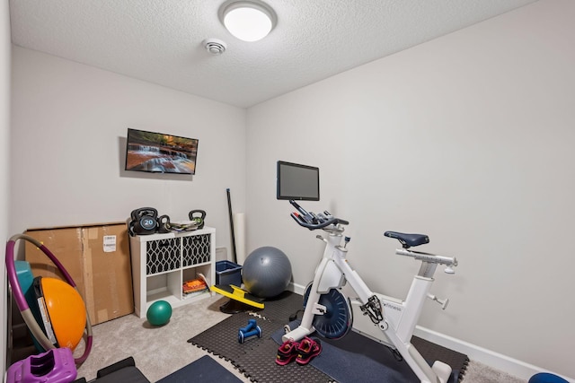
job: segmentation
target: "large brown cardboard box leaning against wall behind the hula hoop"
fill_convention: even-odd
[[[31,229],[72,276],[97,325],[134,312],[128,228],[125,222]],[[25,258],[34,276],[64,279],[40,248],[26,241]]]

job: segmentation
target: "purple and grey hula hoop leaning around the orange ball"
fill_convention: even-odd
[[[78,288],[76,287],[75,282],[72,279],[72,276],[68,274],[68,272],[66,271],[64,265],[62,265],[60,261],[57,259],[57,257],[54,256],[54,254],[52,254],[52,252],[48,248],[46,248],[43,244],[41,244],[39,240],[31,238],[30,236],[25,234],[16,234],[13,235],[10,239],[8,239],[8,242],[6,243],[6,273],[8,274],[8,280],[10,281],[10,285],[12,286],[12,292],[14,300],[16,302],[16,306],[18,306],[18,309],[20,309],[20,312],[22,313],[22,318],[24,319],[26,326],[28,326],[32,335],[34,335],[34,337],[36,338],[38,343],[40,343],[40,345],[44,348],[44,350],[48,351],[51,349],[55,349],[56,347],[54,346],[54,344],[52,344],[49,341],[48,337],[44,335],[44,332],[40,328],[40,325],[38,324],[38,322],[36,322],[36,319],[34,318],[31,309],[28,306],[28,302],[24,298],[24,294],[22,293],[22,287],[20,286],[20,283],[18,283],[16,266],[14,265],[14,246],[16,245],[16,240],[18,239],[27,240],[32,244],[34,244],[34,246],[36,246],[37,248],[40,248],[40,250],[42,250],[42,252],[47,257],[50,258],[50,260],[54,263],[54,265],[57,266],[57,269],[60,271],[60,273],[64,275],[66,282],[69,283],[72,287],[74,287],[76,292],[78,291]],[[82,295],[80,294],[80,296]],[[85,339],[84,354],[82,354],[82,356],[74,360],[76,364],[84,363],[84,361],[88,358],[90,351],[92,350],[92,344],[93,344],[92,324],[90,323],[90,317],[88,316],[88,309],[86,309],[85,330],[87,337]]]

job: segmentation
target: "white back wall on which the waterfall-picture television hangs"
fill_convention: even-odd
[[[229,245],[226,188],[245,204],[245,110],[13,47],[10,232],[207,212]],[[196,175],[125,171],[127,128],[199,139]]]

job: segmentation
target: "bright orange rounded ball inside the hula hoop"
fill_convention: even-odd
[[[44,277],[40,285],[43,306],[48,310],[49,322],[57,344],[74,351],[84,335],[86,325],[84,300],[74,287],[59,279]],[[42,311],[40,300],[40,311]],[[49,334],[47,335],[50,338]]]

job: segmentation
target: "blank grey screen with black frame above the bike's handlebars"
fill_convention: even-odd
[[[278,199],[320,200],[320,170],[314,166],[278,161]]]

